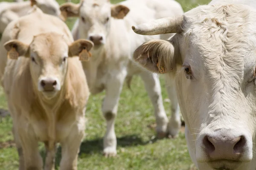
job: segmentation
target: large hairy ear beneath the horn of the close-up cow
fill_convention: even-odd
[[[134,60],[154,73],[167,73],[175,67],[174,45],[166,40],[149,40],[134,51]]]

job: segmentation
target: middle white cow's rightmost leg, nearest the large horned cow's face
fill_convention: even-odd
[[[176,137],[179,133],[181,120],[180,120],[180,107],[178,104],[177,94],[175,91],[174,79],[166,77],[166,89],[171,100],[172,116],[168,124],[169,135]]]

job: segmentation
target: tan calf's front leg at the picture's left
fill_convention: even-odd
[[[34,135],[30,135],[30,132],[26,132],[25,130],[26,128],[24,127],[20,127],[18,130],[25,170],[42,170],[43,160],[38,150],[38,141]]]

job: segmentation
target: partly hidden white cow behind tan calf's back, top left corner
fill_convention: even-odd
[[[60,15],[59,5],[56,0],[28,0],[21,2],[1,2],[0,3],[0,34],[6,26],[13,20],[24,16],[32,9],[32,6],[38,6],[44,13],[55,16]]]

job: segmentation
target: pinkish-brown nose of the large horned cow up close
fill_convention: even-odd
[[[203,145],[211,161],[239,161],[246,150],[246,139],[244,136],[205,136]]]

